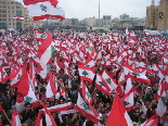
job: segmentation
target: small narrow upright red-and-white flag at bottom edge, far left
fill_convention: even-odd
[[[12,126],[22,126],[17,110],[12,113]]]

